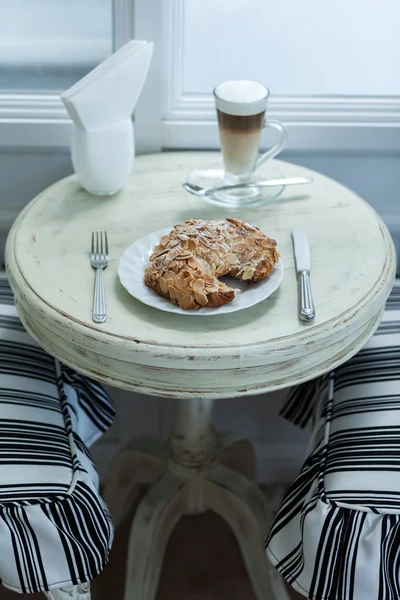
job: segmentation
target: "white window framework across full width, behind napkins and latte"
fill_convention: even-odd
[[[218,148],[211,93],[183,92],[185,0],[114,0],[114,47],[154,42],[135,111],[136,153]],[[289,133],[288,151],[399,153],[400,97],[272,97],[271,118]],[[71,122],[57,95],[0,94],[0,148],[69,145]]]

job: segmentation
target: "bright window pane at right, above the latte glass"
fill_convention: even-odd
[[[184,92],[400,95],[399,0],[186,0]]]

